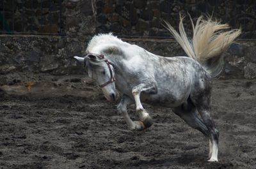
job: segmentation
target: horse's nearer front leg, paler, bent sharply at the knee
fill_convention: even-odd
[[[147,94],[156,94],[157,87],[156,83],[152,82],[145,82],[143,84],[139,84],[132,88],[132,95],[134,97],[135,105],[136,105],[136,112],[140,115],[140,120],[143,123],[144,128],[149,128],[153,121],[152,118],[149,116],[147,111],[143,108],[140,101],[140,94],[141,92],[145,92]]]

